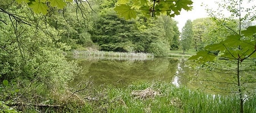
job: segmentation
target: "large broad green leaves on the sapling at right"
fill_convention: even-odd
[[[242,60],[249,57],[255,58],[255,28],[255,26],[248,27],[246,30],[241,31],[241,35],[231,35],[220,43],[206,46],[203,51],[189,59],[207,62],[214,60],[216,57],[224,57],[230,60],[241,59],[242,62]],[[218,54],[214,54],[211,51],[218,51]]]

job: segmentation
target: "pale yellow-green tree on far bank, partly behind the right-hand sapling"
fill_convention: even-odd
[[[193,46],[196,50],[202,50],[207,45],[212,45],[224,40],[224,37],[234,34],[233,31],[227,31],[223,20],[216,18],[200,18],[193,20]],[[225,25],[232,29],[237,29],[237,21],[225,21]]]

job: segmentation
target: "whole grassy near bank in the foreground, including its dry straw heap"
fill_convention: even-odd
[[[63,97],[62,97],[63,98]],[[73,98],[73,99],[72,99]],[[234,95],[212,95],[166,82],[137,83],[122,88],[85,88],[72,93],[61,108],[47,112],[238,112]],[[76,100],[76,101],[74,101]],[[255,112],[256,97],[245,102],[245,112]],[[45,109],[44,109],[45,110]],[[35,110],[39,111],[39,110]]]

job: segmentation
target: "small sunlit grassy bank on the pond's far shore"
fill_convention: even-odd
[[[170,53],[168,53],[168,56],[170,57],[189,57],[192,55],[195,55],[197,53],[196,50],[188,50],[183,54],[183,50],[171,50]]]

